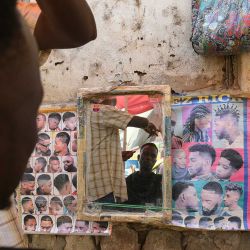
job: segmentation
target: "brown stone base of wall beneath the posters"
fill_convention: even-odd
[[[116,225],[111,237],[30,236],[29,247],[47,250],[248,250],[248,232],[137,230]]]

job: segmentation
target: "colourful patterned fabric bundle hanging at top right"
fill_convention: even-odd
[[[250,50],[249,0],[193,0],[192,44],[199,54]]]

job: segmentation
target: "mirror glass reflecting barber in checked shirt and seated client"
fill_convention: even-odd
[[[163,99],[160,94],[136,94],[86,101],[85,192],[89,208],[162,210]]]

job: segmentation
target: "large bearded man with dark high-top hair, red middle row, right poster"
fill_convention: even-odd
[[[216,152],[209,144],[195,144],[189,148],[189,174],[192,180],[213,181],[212,165]]]

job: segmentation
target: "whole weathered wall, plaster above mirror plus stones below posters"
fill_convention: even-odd
[[[192,49],[191,0],[89,0],[98,38],[72,50],[53,51],[41,68],[44,102],[73,101],[81,87],[121,82],[170,84],[177,91],[220,87],[222,57],[202,57]],[[240,85],[248,90],[249,55],[241,62]],[[211,89],[210,88],[210,89]],[[205,90],[206,91],[206,90]],[[249,249],[249,233],[177,232],[117,225],[111,237],[29,236],[45,249],[161,250]]]

